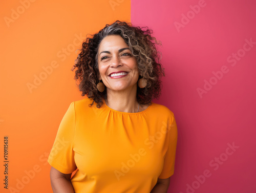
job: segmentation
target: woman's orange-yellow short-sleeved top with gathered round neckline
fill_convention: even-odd
[[[48,162],[69,174],[76,193],[150,192],[174,174],[177,125],[172,111],[152,102],[125,113],[91,99],[71,102]]]

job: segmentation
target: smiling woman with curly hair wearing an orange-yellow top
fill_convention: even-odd
[[[59,125],[48,158],[55,193],[167,192],[177,125],[151,102],[164,75],[151,34],[117,20],[83,42],[72,70],[87,98],[72,102]]]

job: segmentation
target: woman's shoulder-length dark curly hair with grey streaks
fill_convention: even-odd
[[[147,28],[146,30],[142,30]],[[161,41],[156,40],[151,34],[153,30],[148,27],[134,27],[131,23],[120,22],[116,20],[113,24],[106,24],[98,33],[87,37],[82,42],[81,52],[75,60],[75,65],[71,69],[75,71],[75,80],[79,80],[79,91],[82,96],[87,95],[97,103],[97,108],[103,104],[103,97],[106,97],[106,89],[101,93],[97,89],[98,82],[98,49],[102,39],[108,35],[120,35],[135,56],[138,64],[138,70],[141,73],[139,78],[143,77],[147,80],[145,88],[137,86],[136,98],[139,104],[151,105],[153,98],[159,98],[161,95],[161,76],[165,76],[164,68],[160,60],[161,52],[158,52],[155,44],[162,45]],[[153,40],[153,41],[152,41]],[[92,104],[93,104],[92,103]],[[92,104],[89,104],[91,106]]]

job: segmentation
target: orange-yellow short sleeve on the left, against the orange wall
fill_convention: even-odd
[[[63,174],[70,174],[77,168],[73,151],[75,125],[75,102],[72,102],[60,122],[55,141],[48,157],[49,164]]]

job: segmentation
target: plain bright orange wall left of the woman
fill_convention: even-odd
[[[0,192],[52,192],[47,157],[70,102],[84,98],[70,70],[75,52],[105,24],[130,22],[131,2],[2,1],[0,10]]]

